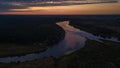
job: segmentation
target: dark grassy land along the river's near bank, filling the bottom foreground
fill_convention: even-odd
[[[120,43],[87,40],[86,46],[61,58],[43,58],[23,63],[0,64],[1,68],[119,68]]]

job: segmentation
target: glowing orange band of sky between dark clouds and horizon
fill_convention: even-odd
[[[11,9],[14,12],[0,14],[36,14],[36,15],[81,15],[81,14],[120,14],[120,3],[103,3],[71,6],[28,7],[25,9]]]

